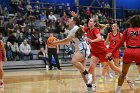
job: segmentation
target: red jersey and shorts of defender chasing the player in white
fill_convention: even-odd
[[[87,37],[91,40],[96,39],[96,35],[100,34],[100,29],[94,27],[92,30],[89,28],[84,28],[85,32],[87,33]],[[104,41],[101,40],[99,42],[90,43],[91,46],[91,56],[98,57],[100,59],[100,62],[107,62],[108,59],[106,58],[106,46],[104,44]]]

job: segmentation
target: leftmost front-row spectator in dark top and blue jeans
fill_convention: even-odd
[[[8,61],[13,60],[13,55],[12,55],[12,50],[11,50],[11,43],[9,41],[5,45],[5,50],[6,50],[7,60]]]

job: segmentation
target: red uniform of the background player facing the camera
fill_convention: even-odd
[[[118,32],[116,35],[113,35],[112,32],[109,33],[109,48],[108,52],[111,52],[114,47],[120,42],[121,36],[120,33]],[[118,49],[114,54],[113,58],[120,58],[120,50]]]

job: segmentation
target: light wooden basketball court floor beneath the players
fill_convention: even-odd
[[[100,83],[101,69],[96,68],[96,93],[115,93],[117,83],[107,77]],[[137,67],[132,65],[128,76],[135,80],[138,75]],[[45,69],[5,71],[5,88],[0,93],[88,93],[79,71],[74,67],[65,67],[63,70],[47,71]],[[122,93],[140,93],[140,81],[135,81],[135,89],[131,90],[128,84],[123,84]]]

